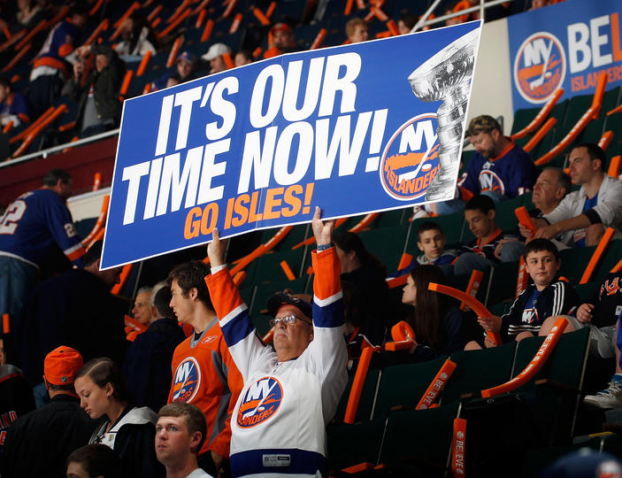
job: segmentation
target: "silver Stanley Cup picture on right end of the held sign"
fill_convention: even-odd
[[[444,100],[438,111],[439,172],[428,186],[426,201],[454,197],[460,167],[466,104],[480,29],[474,29],[429,58],[408,77],[412,92],[422,101]]]

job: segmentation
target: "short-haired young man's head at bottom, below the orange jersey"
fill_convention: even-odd
[[[196,460],[206,435],[205,415],[195,405],[176,402],[157,412],[156,455],[166,478],[211,478]]]

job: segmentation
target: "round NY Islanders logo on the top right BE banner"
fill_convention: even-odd
[[[514,83],[520,96],[540,104],[564,82],[566,57],[562,42],[549,32],[530,35],[514,59]]]

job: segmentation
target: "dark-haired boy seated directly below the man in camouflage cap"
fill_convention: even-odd
[[[465,220],[475,239],[458,250],[454,274],[471,274],[473,269],[486,271],[496,263],[520,258],[524,246],[516,241],[504,243],[497,251],[504,236],[496,225],[495,213],[495,202],[488,196],[474,196],[466,203]]]

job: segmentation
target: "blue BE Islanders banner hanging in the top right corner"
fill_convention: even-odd
[[[602,72],[607,89],[622,84],[619,0],[566,0],[508,19],[514,110],[564,96],[592,94]]]

